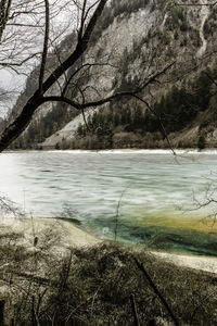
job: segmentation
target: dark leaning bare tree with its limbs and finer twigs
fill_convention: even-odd
[[[31,2],[31,1],[30,1]],[[54,5],[56,1],[52,2]],[[91,61],[90,63],[84,62],[84,55],[87,49],[90,46],[91,36],[93,29],[102,15],[103,9],[106,5],[107,0],[98,0],[98,1],[73,1],[74,4],[74,13],[77,13],[76,16],[76,24],[77,24],[77,38],[75,40],[75,45],[73,46],[73,50],[69,52],[67,58],[61,58],[59,55],[59,61],[54,67],[54,70],[50,71],[48,68],[48,54],[49,54],[49,46],[55,43],[55,40],[51,41],[51,13],[50,7],[51,2],[48,0],[38,2],[38,9],[41,10],[41,5],[43,4],[43,18],[39,15],[39,20],[35,26],[40,27],[41,22],[42,29],[43,29],[43,49],[40,52],[33,52],[27,58],[24,58],[20,63],[8,62],[2,63],[2,65],[10,66],[14,68],[14,66],[20,66],[26,63],[26,61],[33,60],[33,58],[40,59],[40,70],[39,70],[39,77],[38,77],[38,87],[34,95],[27,100],[26,104],[22,108],[21,113],[18,116],[10,123],[10,125],[3,130],[0,135],[0,151],[4,150],[15,138],[17,138],[21,133],[28,126],[30,123],[33,115],[35,114],[36,110],[43,103],[47,102],[64,102],[69,104],[71,106],[79,110],[84,113],[84,110],[91,106],[100,106],[104,103],[107,103],[114,99],[132,96],[138,100],[141,100],[143,104],[146,105],[146,101],[140,98],[140,92],[146,88],[149,85],[156,83],[157,79],[164,75],[174,64],[168,63],[168,65],[164,67],[159,67],[155,72],[152,72],[146,78],[140,80],[138,85],[135,85],[133,89],[130,91],[119,91],[116,93],[104,95],[97,89],[93,89],[93,97],[91,100],[86,98],[86,93],[84,89],[79,89],[79,85],[76,84],[75,77],[77,75],[86,75],[89,70],[94,65],[105,65],[107,62],[94,62]],[[54,5],[55,8],[55,5]],[[35,9],[34,9],[35,11]],[[31,11],[33,14],[33,11]],[[78,61],[80,62],[77,65]],[[1,64],[1,61],[0,61]],[[67,78],[68,70],[73,70],[73,74],[71,78],[67,80],[66,86],[64,89],[61,89],[60,79],[64,77]],[[67,89],[72,83],[76,86],[79,97],[73,98],[67,97]],[[54,85],[60,85],[60,92],[52,93],[52,88]],[[149,108],[149,105],[148,105]],[[149,108],[150,109],[150,108]]]

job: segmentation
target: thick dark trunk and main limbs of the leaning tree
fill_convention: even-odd
[[[48,0],[44,0],[48,4]],[[65,97],[43,97],[44,93],[51,88],[51,86],[56,83],[56,80],[71,67],[73,66],[84,54],[84,52],[87,50],[91,34],[94,29],[94,26],[99,20],[99,17],[102,14],[102,11],[106,4],[107,0],[101,0],[93,12],[89,24],[84,33],[84,36],[81,39],[77,42],[77,46],[74,50],[74,52],[61,64],[58,65],[58,67],[50,74],[50,76],[46,79],[46,82],[42,83],[43,74],[44,74],[44,65],[46,65],[46,59],[47,59],[47,41],[48,41],[48,32],[49,26],[47,25],[47,33],[44,35],[44,49],[43,49],[43,55],[42,55],[42,62],[41,62],[41,71],[40,71],[40,82],[39,82],[39,88],[36,90],[36,92],[33,95],[33,97],[28,100],[28,102],[24,105],[21,114],[15,118],[14,122],[9,124],[9,126],[4,129],[4,131],[0,135],[0,151],[4,150],[15,138],[17,138],[21,133],[28,126],[28,124],[31,121],[31,117],[35,113],[35,111],[44,102],[48,101],[63,101],[78,110],[85,110],[86,108],[90,106],[99,106],[104,103],[107,103],[114,99],[126,97],[126,96],[137,96],[139,92],[141,92],[145,87],[148,87],[150,84],[158,83],[157,78],[165,74],[174,64],[175,62],[168,64],[166,67],[164,67],[162,71],[157,72],[153,76],[151,76],[148,80],[145,80],[143,84],[141,84],[139,87],[137,87],[132,91],[125,91],[120,93],[114,93],[110,97],[106,97],[104,99],[95,100],[88,103],[78,103],[71,99],[67,99]],[[49,14],[49,10],[47,9],[47,15]],[[49,15],[48,15],[49,16]],[[169,143],[169,142],[168,142]],[[170,147],[171,148],[171,147]]]

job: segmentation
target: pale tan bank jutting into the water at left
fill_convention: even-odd
[[[56,218],[1,218],[0,234],[18,234],[22,243],[31,248],[52,243],[56,251],[68,247],[89,247],[100,239],[75,226],[73,223]],[[37,241],[37,244],[36,244]]]

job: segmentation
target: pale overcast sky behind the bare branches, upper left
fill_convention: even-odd
[[[14,0],[13,3],[15,3],[15,1],[18,3],[18,5],[21,4],[21,0]],[[89,1],[92,2],[92,0],[89,0]],[[30,1],[28,1],[28,3],[30,3]],[[33,3],[37,3],[37,0],[35,0],[35,2],[33,2]],[[52,3],[55,3],[55,7],[52,7]],[[50,36],[51,36],[52,40],[54,40],[54,42],[55,42],[56,35],[59,36],[58,42],[60,42],[64,38],[65,35],[72,33],[73,29],[76,28],[78,11],[77,11],[77,9],[75,9],[75,7],[72,3],[73,3],[72,0],[59,0],[59,1],[50,0],[51,15],[53,14],[53,16],[54,16],[51,20]],[[65,7],[63,4],[65,4]],[[23,8],[21,10],[23,10]],[[35,8],[31,10],[35,10]],[[40,17],[40,20],[38,20],[38,22],[37,22],[38,24],[41,24],[41,22],[43,22],[43,18],[44,18],[43,13],[42,13],[41,17]],[[23,21],[24,16],[22,16],[21,18],[22,18],[22,23],[25,23],[25,21]],[[37,18],[38,18],[38,16],[37,16]],[[29,17],[29,16],[26,17],[26,22],[28,22],[28,24],[29,23],[34,24],[35,23],[34,20],[36,21],[36,17]],[[15,23],[21,23],[21,21],[16,21]],[[8,37],[9,40],[10,40],[10,32],[11,32],[10,28],[14,28],[14,27],[9,27],[4,34],[5,36],[9,35],[9,37]],[[16,32],[16,30],[18,30],[18,32]],[[30,28],[23,27],[23,29],[21,29],[20,27],[16,27],[15,33],[17,33],[17,37],[15,39],[15,47],[13,48],[12,42],[8,42],[8,43],[5,42],[7,46],[4,46],[4,47],[5,47],[7,51],[8,51],[8,49],[13,48],[13,52],[17,51],[17,53],[20,53],[20,55],[23,55],[22,58],[25,58],[26,53],[31,53],[31,51],[38,52],[41,50],[42,43],[43,43],[43,30],[44,30],[43,28],[37,28],[37,35],[34,35],[34,34],[36,34],[36,28],[30,29]],[[8,33],[8,35],[7,35],[7,33]],[[20,41],[20,45],[18,45],[18,41]],[[25,46],[23,46],[22,41],[25,42],[24,43]],[[2,45],[3,45],[3,42],[2,42]],[[2,50],[2,45],[0,47],[0,61],[3,61],[3,60],[8,61],[7,55],[2,54],[4,52],[8,53],[7,51],[4,51],[4,49]],[[18,50],[18,46],[21,47],[22,51]],[[15,59],[13,59],[13,60],[17,60],[18,55],[15,55],[14,58]],[[30,70],[33,70],[35,62],[36,61],[31,61],[30,64],[25,65],[22,68],[18,68],[18,73],[25,73],[25,74],[27,73],[28,74],[30,72]],[[10,68],[8,68],[8,70],[0,68],[0,88],[12,91],[11,100],[7,104],[0,101],[0,116],[5,114],[9,106],[13,106],[13,104],[18,96],[18,92],[21,92],[21,90],[25,87],[25,80],[26,80],[25,75],[16,74],[15,72],[13,72]]]

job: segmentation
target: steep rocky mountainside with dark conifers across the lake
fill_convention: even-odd
[[[87,65],[67,96],[93,100],[131,91],[171,67],[148,83],[139,95],[142,100],[123,97],[82,113],[63,103],[43,105],[13,148],[167,148],[168,141],[175,148],[216,147],[217,5],[204,3],[111,1],[82,62],[67,73],[71,79],[75,68]],[[64,55],[74,37],[60,45]],[[49,67],[54,63],[51,54]],[[29,76],[12,117],[33,93],[37,73]],[[65,83],[60,80],[62,88]]]

